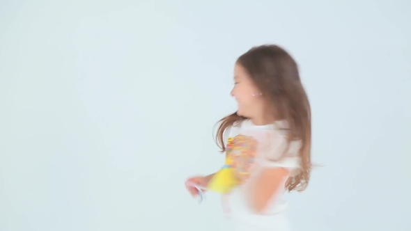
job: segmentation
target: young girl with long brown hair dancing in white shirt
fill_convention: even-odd
[[[238,184],[225,193],[234,230],[290,230],[284,191],[303,191],[311,170],[311,110],[297,64],[276,45],[238,58],[231,95],[238,111],[220,120],[217,141]],[[214,174],[191,177],[207,187]]]

